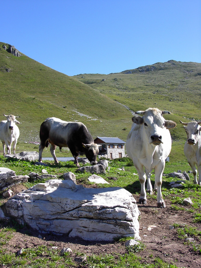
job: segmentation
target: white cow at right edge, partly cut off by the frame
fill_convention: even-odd
[[[193,121],[189,123],[180,121],[180,123],[184,125],[187,134],[187,140],[184,144],[184,154],[193,171],[194,184],[199,184],[201,186],[201,121]],[[198,170],[196,169],[196,166]],[[198,181],[197,173],[199,174]]]

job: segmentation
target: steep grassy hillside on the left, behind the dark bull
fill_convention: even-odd
[[[6,46],[6,49],[4,49]],[[47,117],[81,121],[92,136],[119,136],[130,126],[131,113],[99,91],[22,54],[8,52],[0,42],[0,120],[21,116],[20,142],[39,141],[40,124]]]

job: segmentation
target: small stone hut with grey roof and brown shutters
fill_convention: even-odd
[[[99,155],[115,159],[125,157],[125,143],[123,140],[114,137],[97,137],[94,143],[102,145],[99,147]]]

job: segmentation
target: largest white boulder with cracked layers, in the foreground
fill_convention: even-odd
[[[71,180],[52,179],[11,197],[6,211],[42,233],[84,240],[140,239],[136,201],[119,187],[84,188]]]

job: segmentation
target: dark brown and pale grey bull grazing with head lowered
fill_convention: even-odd
[[[54,158],[54,163],[58,163],[55,155],[56,146],[69,147],[75,164],[79,167],[77,157],[79,152],[85,153],[91,165],[97,164],[98,145],[81,122],[66,122],[59,118],[47,118],[40,126],[39,162],[42,162],[42,151],[51,145],[50,152]]]

